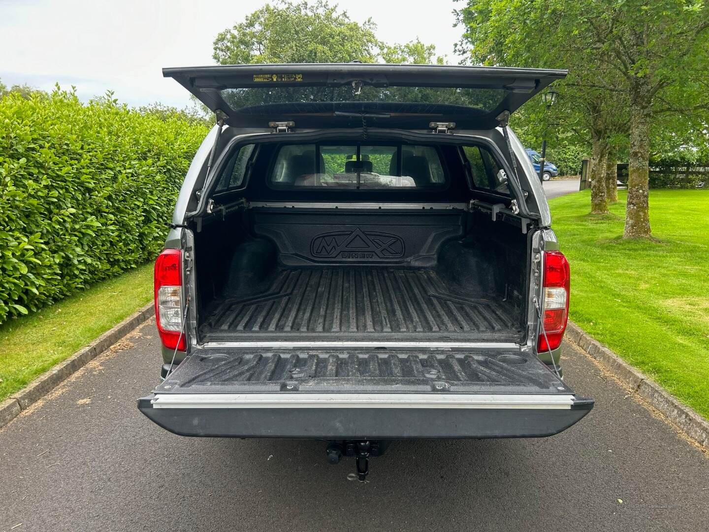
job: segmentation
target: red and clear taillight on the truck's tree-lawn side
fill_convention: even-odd
[[[561,251],[544,253],[544,292],[542,294],[542,321],[537,352],[556,349],[562,344],[566,321],[569,318],[569,261]],[[548,343],[547,343],[548,342]]]

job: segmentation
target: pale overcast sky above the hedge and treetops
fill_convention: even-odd
[[[113,89],[130,105],[189,104],[162,67],[211,65],[212,43],[264,0],[0,0],[0,79],[51,89],[75,85],[82,99]],[[331,2],[335,3],[335,2]],[[354,21],[372,17],[389,43],[416,37],[457,63],[454,0],[340,0]],[[423,6],[423,1],[420,1]],[[216,13],[216,14],[215,14]]]

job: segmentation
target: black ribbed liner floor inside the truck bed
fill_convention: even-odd
[[[248,297],[223,299],[201,326],[203,341],[235,336],[298,334],[361,338],[458,338],[519,341],[519,311],[506,301],[460,294],[434,270],[406,267],[281,267],[273,281]]]

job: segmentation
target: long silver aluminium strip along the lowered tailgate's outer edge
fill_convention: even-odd
[[[155,394],[155,409],[571,409],[571,394]]]

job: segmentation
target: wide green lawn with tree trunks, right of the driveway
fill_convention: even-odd
[[[620,238],[618,195],[605,216],[588,214],[588,191],[549,202],[571,319],[709,418],[709,191],[650,191],[656,242]]]

